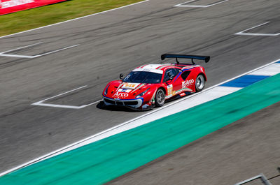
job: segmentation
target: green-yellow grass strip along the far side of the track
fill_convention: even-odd
[[[141,0],[71,0],[0,15],[0,36],[137,3]]]

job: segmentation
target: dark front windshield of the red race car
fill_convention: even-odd
[[[162,74],[159,73],[132,71],[123,79],[123,82],[158,84],[161,79]]]

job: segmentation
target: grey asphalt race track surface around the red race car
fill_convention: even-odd
[[[280,32],[278,0],[225,1],[209,8],[174,7],[184,1],[151,0],[109,13],[0,38],[0,52],[41,43],[0,57],[0,172],[145,112],[34,106],[31,103],[87,85],[47,103],[85,105],[99,101],[107,82],[160,54],[210,55],[202,64],[207,87],[279,59],[280,36],[239,36]],[[216,1],[197,1],[200,4]]]

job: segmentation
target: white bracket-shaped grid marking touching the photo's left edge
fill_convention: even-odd
[[[17,57],[17,58],[27,58],[27,59],[34,59],[34,58],[37,58],[37,57],[43,57],[47,54],[52,54],[52,53],[55,53],[55,52],[60,52],[62,50],[67,50],[67,49],[70,49],[71,47],[76,47],[78,46],[77,45],[71,45],[71,46],[67,46],[67,47],[62,47],[60,48],[59,50],[53,50],[51,52],[45,52],[43,54],[36,54],[36,55],[32,55],[32,56],[29,56],[29,55],[22,55],[22,54],[7,54],[8,52],[14,52],[14,51],[17,51],[17,50],[21,50],[21,49],[24,49],[24,48],[27,48],[27,47],[33,47],[35,45],[39,45],[39,44],[42,44],[43,42],[41,43],[35,43],[35,44],[31,44],[31,45],[26,45],[26,46],[23,46],[23,47],[18,47],[18,48],[15,48],[13,50],[8,50],[8,51],[5,51],[5,52],[0,52],[0,57]]]

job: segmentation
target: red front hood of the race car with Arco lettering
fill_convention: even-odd
[[[153,84],[142,84],[142,83],[130,83],[122,82],[120,80],[110,82],[104,92],[107,89],[107,94],[103,95],[108,98],[118,98],[118,99],[134,99],[137,95],[151,88]]]

